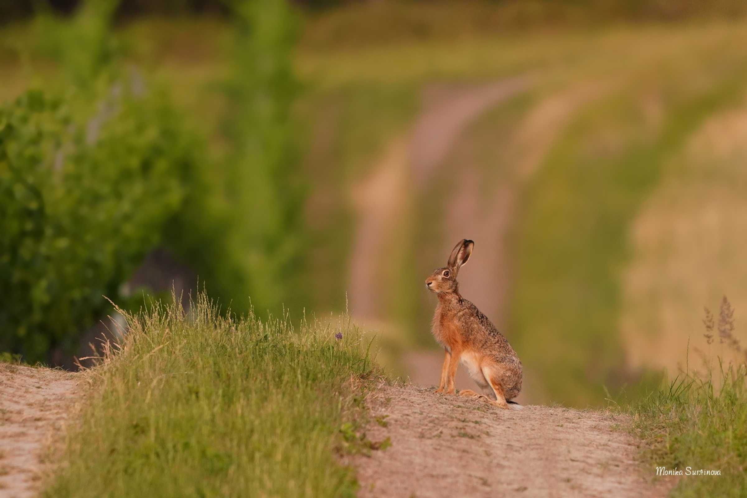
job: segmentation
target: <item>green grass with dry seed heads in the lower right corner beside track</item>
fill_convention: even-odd
[[[713,340],[713,315],[707,311],[706,338]],[[737,349],[733,309],[724,299],[719,341]],[[739,351],[740,352],[740,351]],[[744,497],[747,495],[747,364],[716,364],[703,355],[704,369],[685,370],[676,379],[628,407],[633,432],[648,441],[644,461],[682,470],[672,497]],[[720,475],[690,475],[719,470]]]

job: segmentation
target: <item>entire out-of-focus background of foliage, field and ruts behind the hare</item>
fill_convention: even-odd
[[[0,351],[64,363],[102,296],[199,277],[238,312],[348,308],[433,384],[422,282],[469,237],[525,401],[636,396],[710,354],[704,305],[747,308],[745,13],[0,1]]]

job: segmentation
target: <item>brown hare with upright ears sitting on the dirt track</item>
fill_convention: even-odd
[[[472,240],[459,241],[446,266],[438,268],[425,281],[428,290],[438,296],[432,332],[445,352],[436,392],[454,393],[454,374],[461,360],[486,394],[462,390],[460,396],[477,396],[500,408],[521,409],[521,405],[510,401],[521,390],[521,361],[488,317],[459,294],[456,276],[473,247]]]

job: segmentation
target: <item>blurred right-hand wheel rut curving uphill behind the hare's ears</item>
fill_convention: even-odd
[[[516,123],[509,143],[503,146],[508,150],[496,151],[516,161],[506,166],[505,179],[495,184],[490,198],[483,202],[479,192],[486,181],[484,167],[469,155],[460,158],[462,174],[455,178],[456,188],[450,200],[456,209],[447,213],[444,243],[459,240],[462,234],[470,234],[469,237],[479,241],[476,249],[483,248],[484,254],[480,271],[460,274],[459,285],[500,330],[506,326],[506,308],[514,278],[515,258],[509,236],[519,217],[521,197],[574,111],[599,93],[599,85],[575,84],[535,105]]]

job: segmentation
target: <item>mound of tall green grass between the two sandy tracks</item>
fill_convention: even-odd
[[[189,314],[158,305],[128,321],[121,349],[84,374],[43,496],[355,496],[335,451],[356,442],[376,367],[349,321],[294,331],[223,317],[202,296]]]

